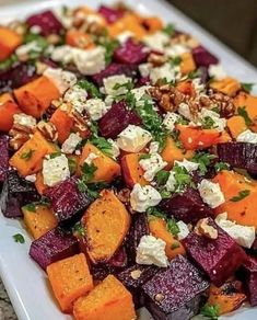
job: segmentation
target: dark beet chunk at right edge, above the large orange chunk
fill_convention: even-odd
[[[220,161],[257,174],[257,144],[227,142],[217,147]]]

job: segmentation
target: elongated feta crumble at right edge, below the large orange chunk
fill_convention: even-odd
[[[215,222],[226,233],[244,248],[250,248],[255,241],[255,227],[237,225],[235,221],[227,220],[227,214],[223,213],[217,216]]]

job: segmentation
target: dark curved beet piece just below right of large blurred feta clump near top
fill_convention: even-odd
[[[92,80],[101,87],[103,85],[104,78],[115,75],[125,75],[127,77],[135,78],[137,76],[137,65],[110,64],[106,69],[94,75]]]

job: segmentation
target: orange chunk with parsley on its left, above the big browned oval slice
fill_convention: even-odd
[[[86,142],[86,145],[83,147],[79,162],[81,167],[84,164],[84,161],[90,156],[90,153],[95,153],[97,156],[97,158],[92,161],[92,164],[94,164],[97,169],[95,170],[94,176],[90,182],[112,182],[114,178],[120,175],[120,165],[112,158],[105,156],[91,142]]]

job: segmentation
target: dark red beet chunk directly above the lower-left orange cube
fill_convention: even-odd
[[[30,255],[46,270],[47,265],[79,252],[78,239],[59,227],[32,242]]]

